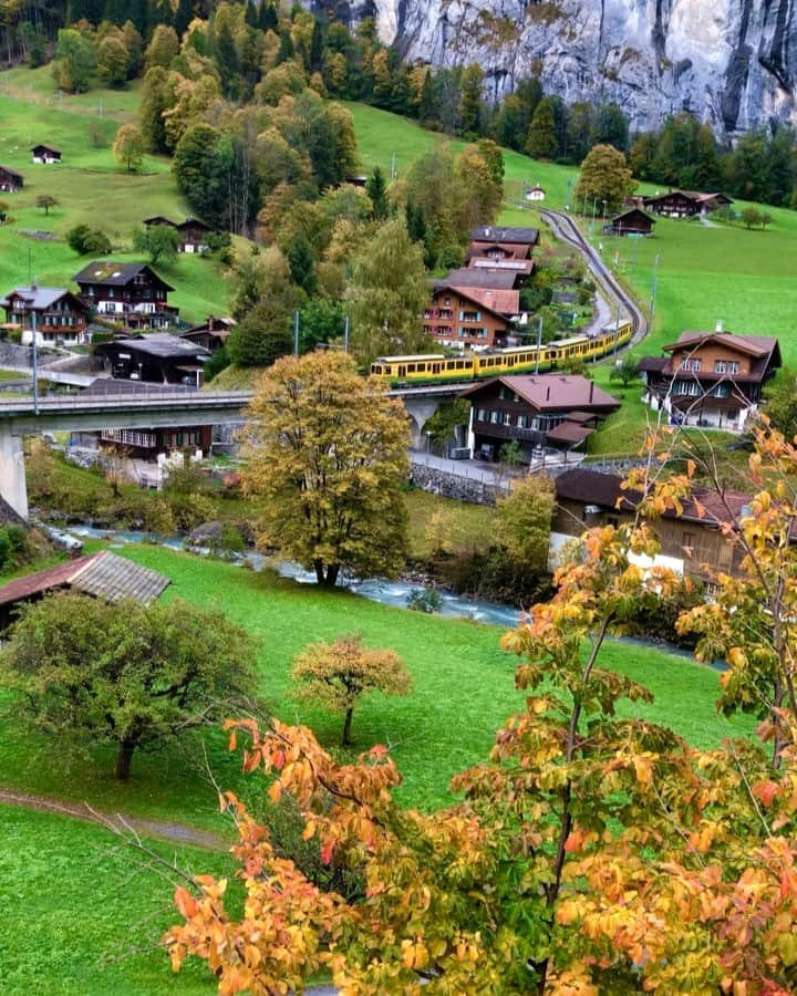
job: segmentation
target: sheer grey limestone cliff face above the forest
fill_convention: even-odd
[[[731,134],[797,124],[797,0],[315,0],[375,17],[412,61],[478,62],[499,96],[538,72],[568,102],[614,101],[633,127],[689,110]]]

